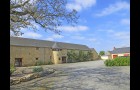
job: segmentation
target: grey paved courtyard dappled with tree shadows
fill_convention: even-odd
[[[10,90],[130,90],[130,66],[106,67],[98,60],[43,67],[56,72],[10,86]]]

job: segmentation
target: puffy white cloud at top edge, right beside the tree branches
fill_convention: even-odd
[[[77,11],[81,11],[95,4],[96,0],[73,0],[71,3],[66,5],[66,8],[69,10],[75,9]]]

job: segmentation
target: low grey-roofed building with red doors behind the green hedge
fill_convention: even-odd
[[[109,59],[114,59],[121,56],[130,56],[130,47],[113,48],[112,51],[108,51]]]

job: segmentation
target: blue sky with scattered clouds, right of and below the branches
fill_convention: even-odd
[[[66,8],[80,15],[75,27],[63,25],[57,35],[36,25],[38,31],[23,29],[20,37],[84,44],[97,52],[130,46],[129,0],[68,0]]]

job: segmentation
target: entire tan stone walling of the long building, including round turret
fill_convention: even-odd
[[[52,61],[54,64],[62,63],[62,57],[66,57],[70,49],[62,49],[60,51],[52,51],[51,48],[44,47],[29,47],[29,46],[10,46],[10,63],[15,63],[15,58],[22,58],[22,66],[34,66],[36,62],[47,64]],[[79,54],[80,50],[72,50]],[[88,50],[83,50],[85,54]],[[93,60],[98,59],[98,53],[92,50]]]

